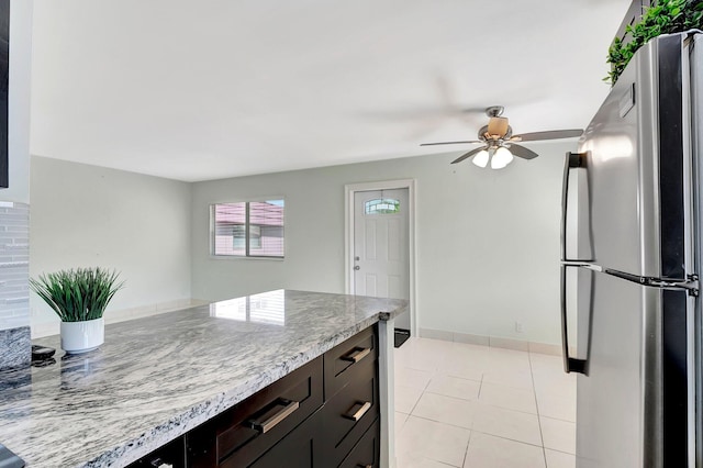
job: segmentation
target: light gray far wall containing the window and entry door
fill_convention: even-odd
[[[451,153],[194,183],[192,294],[344,292],[344,186],[414,178],[419,326],[557,344],[561,171],[576,145],[532,147],[539,158],[499,171],[449,165]],[[274,196],[286,198],[284,260],[210,257],[211,203]]]

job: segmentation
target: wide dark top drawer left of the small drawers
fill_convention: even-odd
[[[317,358],[189,432],[189,466],[248,466],[322,405],[322,374]]]

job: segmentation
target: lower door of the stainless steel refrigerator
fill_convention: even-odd
[[[578,376],[577,467],[687,467],[693,435],[685,291],[591,277],[585,374]],[[579,332],[582,330],[580,328]]]

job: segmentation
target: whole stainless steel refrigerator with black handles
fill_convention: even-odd
[[[567,155],[561,305],[577,467],[702,464],[702,108],[703,34],[661,36]]]

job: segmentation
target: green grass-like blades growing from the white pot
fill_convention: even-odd
[[[30,278],[30,287],[62,322],[100,319],[112,297],[124,286],[120,274],[104,268],[75,268]]]

